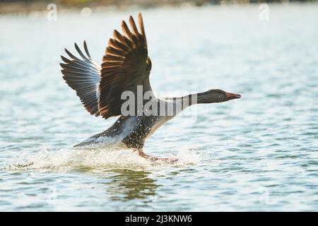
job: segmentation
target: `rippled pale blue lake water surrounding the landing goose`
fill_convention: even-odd
[[[146,153],[175,165],[72,148],[114,119],[86,112],[59,56],[86,40],[100,63],[138,12],[0,16],[0,210],[317,211],[317,4],[270,5],[268,21],[257,4],[142,10],[153,90],[242,99],[199,105],[148,139]]]

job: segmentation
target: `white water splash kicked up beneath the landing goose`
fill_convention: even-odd
[[[148,152],[149,153],[149,152]],[[60,150],[40,150],[38,153],[20,153],[13,157],[5,169],[110,169],[129,168],[146,169],[162,165],[184,166],[193,165],[201,161],[198,153],[191,150],[179,150],[177,162],[151,161],[140,157],[134,150],[123,148],[71,148]]]

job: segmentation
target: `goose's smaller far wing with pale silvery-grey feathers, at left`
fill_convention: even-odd
[[[98,85],[100,84],[100,66],[93,61],[88,52],[86,42],[84,49],[86,55],[81,52],[75,43],[75,48],[82,59],[75,57],[71,52],[65,49],[70,59],[61,56],[64,63],[61,63],[61,73],[66,83],[76,91],[82,104],[90,114],[99,116],[98,111]]]

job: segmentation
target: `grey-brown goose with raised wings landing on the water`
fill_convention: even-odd
[[[130,28],[123,20],[122,34],[114,30],[114,37],[108,42],[101,66],[90,57],[85,41],[83,43],[85,54],[75,43],[79,58],[67,49],[65,51],[69,58],[61,56],[64,61],[60,64],[63,78],[76,91],[86,110],[95,117],[101,116],[104,119],[118,117],[106,131],[91,136],[75,147],[116,143],[136,150],[141,157],[149,160],[169,161],[167,158],[153,157],[143,153],[146,139],[156,129],[190,105],[225,102],[241,96],[213,89],[183,97],[163,99],[155,97],[149,81],[151,59],[148,57],[141,13],[138,16],[138,23],[139,29],[134,18],[130,16]],[[127,102],[125,97],[130,95],[135,97],[131,98],[135,101],[125,108],[124,105]],[[145,95],[148,98],[144,98]]]

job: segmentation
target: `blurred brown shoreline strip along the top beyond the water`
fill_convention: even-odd
[[[92,8],[95,11],[105,10],[125,10],[128,8],[157,8],[157,7],[187,7],[187,6],[207,6],[207,5],[244,5],[244,4],[289,4],[289,3],[317,3],[317,0],[4,0],[0,2],[0,14],[20,14],[33,13],[37,11],[47,11],[49,4],[56,4],[59,11],[76,11],[83,8]]]

